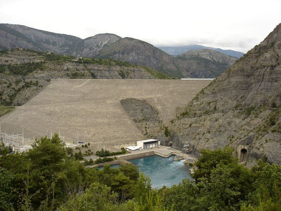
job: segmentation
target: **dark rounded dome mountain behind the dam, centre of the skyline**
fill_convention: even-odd
[[[134,38],[126,37],[112,43],[101,50],[97,57],[127,61],[181,78],[190,76],[175,58],[149,43]]]

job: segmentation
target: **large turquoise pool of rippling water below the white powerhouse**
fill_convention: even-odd
[[[183,164],[184,160],[174,161],[175,156],[163,158],[158,155],[147,156],[129,160],[139,167],[140,172],[144,172],[151,179],[152,188],[161,188],[163,185],[171,187],[179,184],[183,179],[189,178],[189,167]]]

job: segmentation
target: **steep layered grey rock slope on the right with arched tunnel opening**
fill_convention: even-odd
[[[281,24],[185,107],[177,108],[167,145],[235,148],[253,165],[265,156],[281,164]],[[161,142],[162,143],[162,142]],[[237,151],[236,151],[237,149]]]

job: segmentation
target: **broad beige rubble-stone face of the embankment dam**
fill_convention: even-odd
[[[147,137],[121,105],[126,98],[145,100],[159,119],[169,122],[208,80],[55,79],[36,97],[0,118],[2,130],[25,137],[61,131],[66,142],[90,142],[92,150],[120,150]],[[139,108],[141,110],[141,108]],[[118,146],[118,147],[115,147]]]

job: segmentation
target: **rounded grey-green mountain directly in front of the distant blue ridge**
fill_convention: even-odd
[[[218,77],[238,59],[209,49],[190,50],[175,58],[193,78]]]

